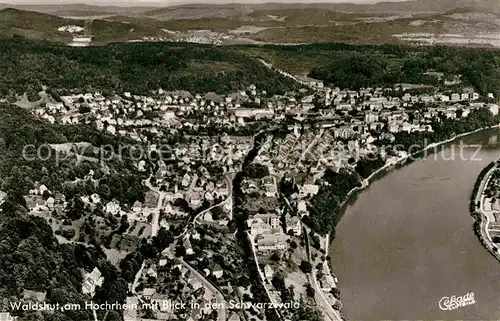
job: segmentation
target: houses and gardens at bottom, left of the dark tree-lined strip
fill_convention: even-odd
[[[217,248],[199,246],[201,243],[215,244],[217,242],[225,244]],[[228,242],[225,241],[224,233],[201,235],[198,232],[188,232],[178,240],[177,245],[171,244],[164,249],[157,260],[150,260],[146,263],[138,278],[139,284],[143,285],[138,290],[138,297],[152,305],[156,320],[195,321],[212,314],[217,304],[221,302],[218,301],[214,288],[207,286],[209,283],[217,284],[219,291],[230,289],[228,293],[233,292],[228,271],[214,262],[214,255],[221,255],[228,246],[232,245],[226,244]],[[179,260],[174,249],[181,244],[185,250],[185,261]],[[193,244],[197,245],[196,252]],[[230,257],[227,257],[224,263],[232,264]],[[194,268],[198,273],[193,272]],[[175,282],[171,282],[172,278],[175,278]],[[136,300],[135,297],[127,299],[131,302],[136,302]],[[180,308],[180,305],[176,305],[175,302],[185,302],[187,307]],[[229,320],[240,320],[236,313],[231,314],[228,311],[227,316]],[[137,312],[128,313],[125,320],[139,320]]]

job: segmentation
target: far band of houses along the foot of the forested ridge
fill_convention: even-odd
[[[265,91],[251,85],[227,95],[158,90],[154,97],[124,93],[106,98],[100,93],[87,93],[63,96],[62,102],[47,103],[35,113],[50,122],[92,122],[110,134],[142,142],[181,130],[194,133],[204,128],[218,128],[221,132],[238,130],[259,120],[279,122],[286,115],[298,120],[313,117],[320,126],[334,128],[335,137],[345,139],[373,131],[431,131],[430,123],[440,113],[448,118],[466,117],[471,109],[488,108],[498,114],[498,105],[483,102],[484,99],[471,88],[461,93],[431,95],[411,94],[404,89],[403,93],[402,86],[356,91],[325,87],[310,79],[301,82],[313,91],[268,97]],[[492,93],[487,94],[487,99],[493,98]],[[318,104],[322,107],[317,108]],[[415,111],[417,105],[424,106],[425,110]],[[158,146],[153,144],[151,148]],[[226,166],[231,167],[231,164]]]

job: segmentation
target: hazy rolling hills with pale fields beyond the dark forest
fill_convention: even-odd
[[[500,33],[499,0],[413,0],[377,4],[271,2],[189,4],[164,8],[84,4],[18,7],[43,12],[0,11],[0,35],[18,34],[64,43],[68,43],[72,35],[57,32],[58,27],[83,26],[83,20],[90,18],[93,19],[93,44],[125,41],[218,45],[422,41],[401,39],[406,34],[430,35],[428,42],[434,43],[435,36],[452,34],[478,36],[481,38],[479,44],[488,46],[492,45],[489,37],[495,32]],[[453,41],[455,38],[451,39]],[[465,41],[468,43],[478,42]]]

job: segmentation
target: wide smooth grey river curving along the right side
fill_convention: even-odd
[[[464,148],[464,159],[458,141],[438,147],[347,206],[330,247],[347,319],[500,319],[500,262],[474,235],[468,212],[479,172],[500,156],[497,137],[492,129],[460,138],[483,145],[477,155]],[[469,292],[475,304],[439,308],[442,297]]]

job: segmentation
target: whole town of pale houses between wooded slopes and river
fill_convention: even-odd
[[[434,124],[478,110],[499,113],[493,94],[460,88],[459,76],[444,82],[446,90],[346,90],[278,72],[302,88],[273,96],[253,85],[226,95],[45,93],[32,109],[51,124],[91,126],[126,143],[51,144],[58,159],[83,170],[65,191],[36,182],[25,197],[59,242],[100,244],[113,265],[130,270],[126,304],[141,308],[124,311],[124,320],[295,320],[300,313],[313,320],[318,311],[321,320],[341,320],[329,233],[311,223],[313,199],[331,177],[374,155],[383,159],[379,167],[403,160],[406,151],[387,148],[400,133],[432,133]],[[140,178],[129,189],[100,182],[120,161]],[[92,298],[105,276],[95,267],[83,280]]]

